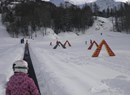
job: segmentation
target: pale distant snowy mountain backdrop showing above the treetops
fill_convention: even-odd
[[[101,11],[107,10],[107,8],[119,8],[121,2],[123,2],[121,0],[50,0],[50,2],[54,3],[57,6],[59,6],[61,3],[64,4],[65,1],[68,1],[71,4],[78,5],[80,7],[86,3],[88,3],[88,5],[96,3]]]

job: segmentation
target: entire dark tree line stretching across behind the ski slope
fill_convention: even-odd
[[[113,31],[130,33],[130,5],[128,3],[122,3],[120,8],[108,8],[103,11],[99,11],[96,4],[92,6],[85,4],[80,8],[68,2],[59,7],[44,1],[23,1],[15,7],[9,5],[10,2],[4,3],[1,7],[2,22],[13,37],[19,34],[32,36],[32,33],[41,28],[45,31],[44,36],[48,27],[57,34],[69,31],[85,32],[93,25],[97,16],[111,17]]]

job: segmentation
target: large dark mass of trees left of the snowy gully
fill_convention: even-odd
[[[92,26],[92,10],[85,5],[82,9],[68,2],[56,7],[50,2],[21,2],[15,7],[2,7],[2,21],[12,36],[30,36],[43,28],[50,27],[55,33],[82,31]],[[44,34],[45,35],[45,34]]]

